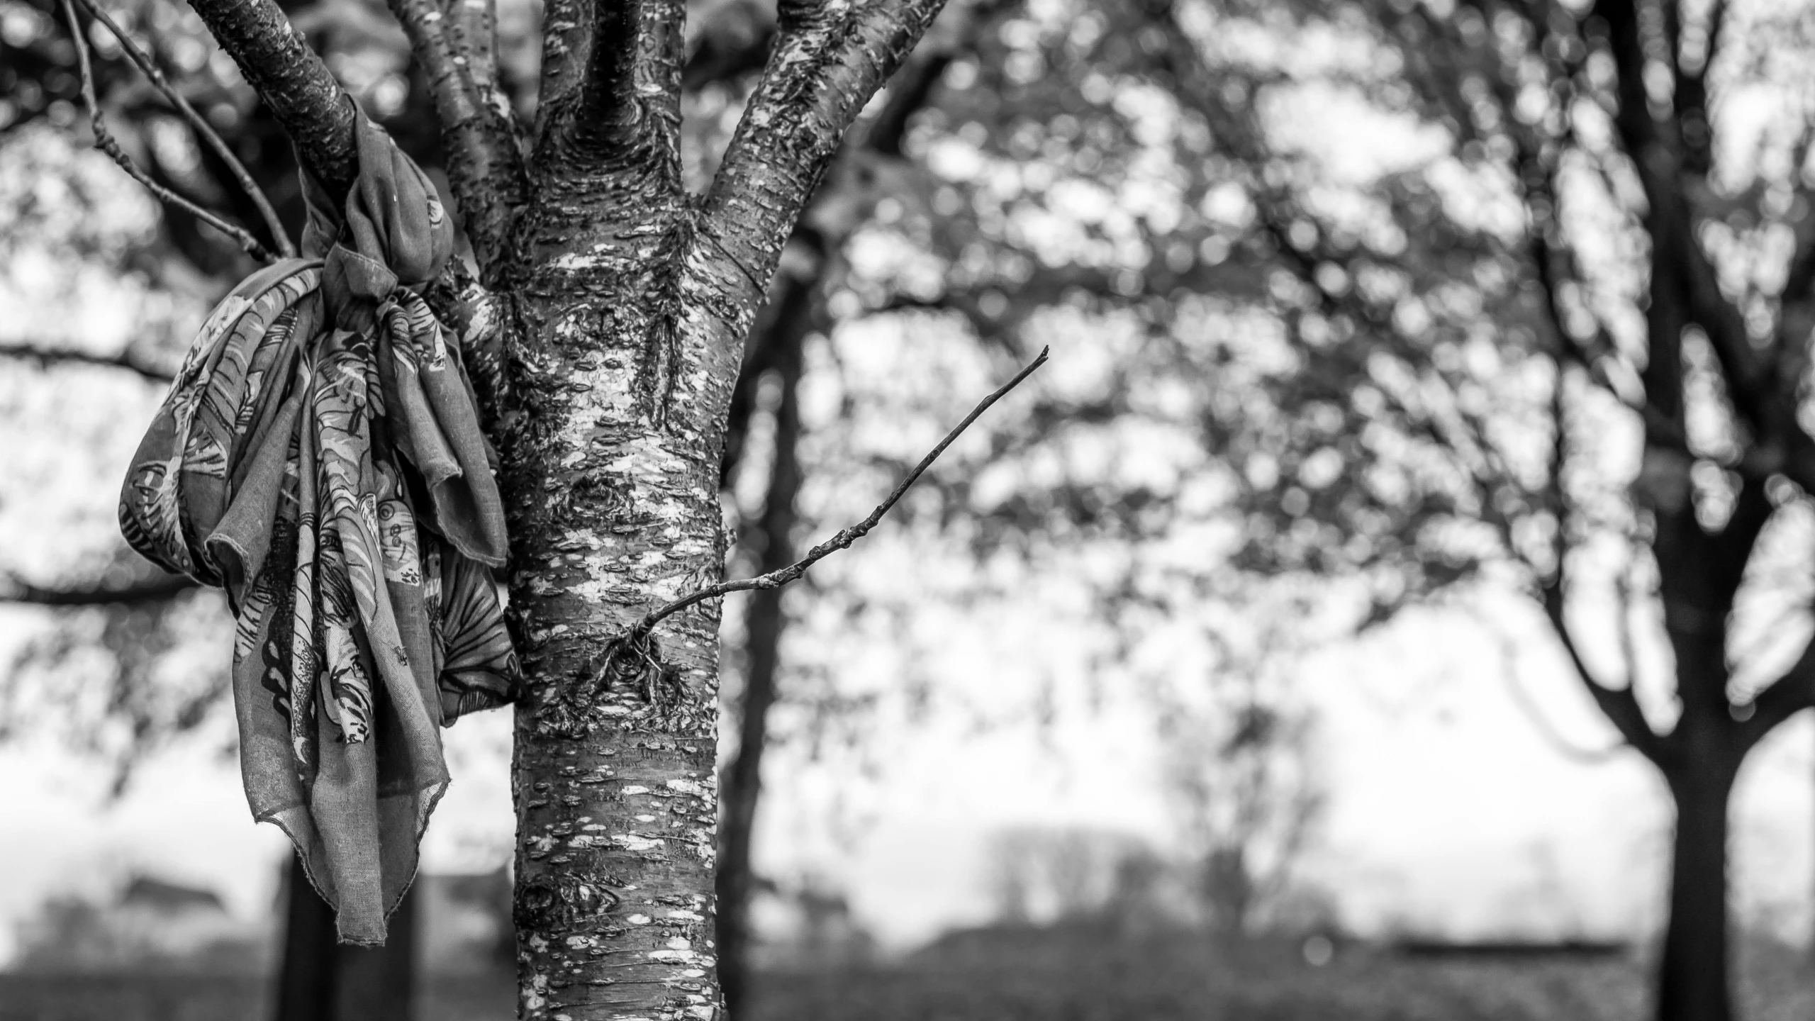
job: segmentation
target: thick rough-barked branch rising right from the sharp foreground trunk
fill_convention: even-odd
[[[784,0],[780,38],[706,193],[693,245],[739,273],[731,300],[755,309],[782,243],[864,104],[926,35],[944,0],[813,7]],[[742,342],[742,331],[735,331]]]

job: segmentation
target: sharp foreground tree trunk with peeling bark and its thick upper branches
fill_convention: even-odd
[[[784,4],[695,196],[681,180],[681,0],[550,0],[534,125],[494,102],[486,5],[450,16],[392,4],[434,93],[485,283],[461,340],[476,356],[495,340],[501,354],[486,411],[523,663],[512,799],[525,1021],[719,1014],[719,607],[643,621],[722,574],[719,469],[744,332],[846,129],[942,5]],[[352,100],[281,7],[192,7],[301,164],[345,194]]]

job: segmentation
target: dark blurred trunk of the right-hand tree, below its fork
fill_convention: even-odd
[[[1657,1021],[1733,1017],[1726,845],[1737,761],[1730,758],[1692,754],[1666,772],[1677,825],[1670,917],[1657,965]]]

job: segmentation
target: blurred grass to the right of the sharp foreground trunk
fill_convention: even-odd
[[[1309,966],[1290,945],[1191,937],[971,941],[891,966],[784,970],[750,1021],[1643,1021],[1635,957],[1419,959],[1349,948]],[[1744,1021],[1815,1016],[1815,966],[1784,947],[1742,957]]]

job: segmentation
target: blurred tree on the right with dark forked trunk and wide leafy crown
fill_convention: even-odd
[[[1176,540],[1203,505],[1191,478],[1232,483],[1198,523],[1234,512],[1234,536],[1203,532],[1234,567],[1336,580],[1352,627],[1523,587],[1677,801],[1659,1016],[1728,1017],[1728,794],[1815,696],[1806,623],[1782,629],[1811,587],[1808,9],[1033,11],[922,122],[944,191],[897,233],[931,260],[857,298],[986,336],[1051,334],[1069,305],[1138,351],[1094,407],[1051,401],[1036,443],[955,472],[946,520]],[[1180,378],[1202,383],[1162,382]],[[1109,418],[1198,427],[1231,471],[991,487],[1016,441],[1051,456]],[[1171,574],[1192,596],[1218,578],[1136,554],[1102,590],[1138,612],[1176,596]],[[1653,639],[1672,694],[1643,707]]]

